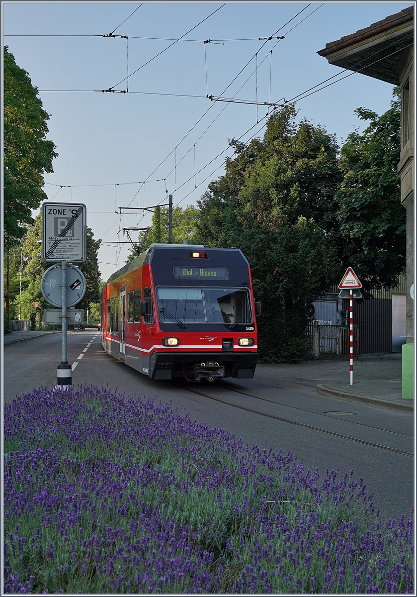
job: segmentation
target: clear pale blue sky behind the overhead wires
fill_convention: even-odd
[[[45,193],[49,201],[87,205],[87,224],[103,241],[102,279],[128,256],[123,228],[151,223],[152,214],[119,207],[163,204],[166,191],[174,206],[196,205],[233,156],[228,139],[263,136],[267,106],[207,95],[291,100],[342,73],[317,54],[326,43],[410,4],[4,2],[4,45],[50,114],[58,157]],[[109,33],[128,39],[103,37]],[[284,39],[259,39],[274,35]],[[101,91],[109,88],[128,93]],[[298,118],[343,143],[366,127],[354,110],[385,112],[393,85],[354,73],[317,89],[297,101]]]

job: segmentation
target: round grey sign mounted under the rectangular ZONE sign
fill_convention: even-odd
[[[42,294],[54,307],[62,306],[61,276],[61,264],[55,263],[46,270],[41,280]],[[86,290],[84,274],[75,265],[67,263],[67,307],[79,303]]]

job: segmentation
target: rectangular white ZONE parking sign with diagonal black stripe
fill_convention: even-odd
[[[42,204],[42,260],[87,259],[87,208],[79,203]]]

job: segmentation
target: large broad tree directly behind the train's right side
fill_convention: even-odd
[[[338,145],[323,127],[273,114],[263,140],[230,141],[236,158],[199,202],[206,244],[239,247],[249,261],[263,362],[304,355],[307,309],[338,277]]]

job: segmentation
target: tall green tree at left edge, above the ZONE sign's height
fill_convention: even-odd
[[[38,90],[26,70],[17,66],[4,48],[4,235],[10,247],[26,233],[22,224],[33,224],[32,211],[47,195],[44,173],[52,172],[57,157],[47,140],[47,121]]]

